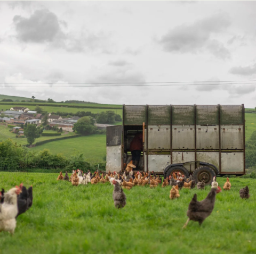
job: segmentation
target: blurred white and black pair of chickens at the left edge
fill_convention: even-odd
[[[33,188],[28,189],[21,183],[5,192],[0,192],[0,232],[14,233],[16,218],[25,213],[33,203]]]

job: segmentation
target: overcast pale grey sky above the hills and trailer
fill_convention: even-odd
[[[107,104],[243,103],[252,108],[256,84],[40,84],[256,80],[255,24],[254,1],[0,1],[0,94]]]

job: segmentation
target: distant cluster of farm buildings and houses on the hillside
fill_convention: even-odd
[[[53,127],[57,126],[62,128],[63,131],[73,132],[74,124],[79,120],[80,117],[74,116],[70,118],[62,118],[60,115],[48,115],[48,124]],[[30,111],[27,107],[11,107],[10,110],[0,112],[0,122],[5,122],[8,124],[36,124],[41,125],[42,114],[38,114],[36,111]],[[95,124],[98,129],[106,129],[107,126],[112,126],[110,124]],[[15,127],[19,128],[19,127]],[[19,133],[23,134],[23,133]]]

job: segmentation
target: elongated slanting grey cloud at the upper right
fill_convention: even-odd
[[[229,19],[225,14],[215,14],[193,24],[181,24],[173,28],[162,36],[158,43],[167,52],[197,53],[206,47],[214,55],[217,54],[217,57],[227,57],[227,49],[224,50],[220,43],[217,45],[216,40],[211,40],[211,35],[225,30],[229,25]],[[213,49],[214,44],[217,49]]]

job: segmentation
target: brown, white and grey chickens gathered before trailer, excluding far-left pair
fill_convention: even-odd
[[[70,181],[73,185],[78,184],[87,184],[88,182],[91,182],[91,184],[97,184],[97,183],[106,183],[109,182],[114,185],[114,191],[113,191],[113,200],[114,205],[116,208],[122,208],[126,205],[126,196],[123,192],[123,188],[130,190],[135,185],[149,185],[150,188],[157,187],[158,184],[162,183],[162,178],[159,176],[156,176],[155,172],[152,171],[152,174],[143,172],[143,175],[140,172],[133,174],[133,165],[128,164],[126,167],[126,171],[122,173],[120,171],[119,173],[113,172],[110,173],[100,173],[98,171],[95,171],[94,174],[92,174],[90,171],[83,174],[81,170],[73,171],[73,174],[69,178],[68,173],[66,172],[66,175],[63,176],[62,172],[60,172],[60,175],[58,176],[57,180],[67,180]],[[186,189],[193,189],[197,187],[197,189],[203,189],[205,188],[205,182],[198,182],[196,184],[196,181],[192,178],[192,175],[188,179],[184,175],[182,175],[180,172],[177,174],[173,173],[173,175],[170,175],[169,177],[166,177],[162,183],[162,187],[166,187],[168,185],[171,185],[172,189],[170,190],[170,199],[176,199],[180,197],[179,190],[182,188]],[[123,187],[123,188],[122,188]],[[219,187],[218,182],[216,181],[216,177],[213,177],[213,181],[211,184],[211,191],[207,195],[207,197],[202,201],[197,201],[197,194],[194,194],[193,199],[190,201],[190,204],[188,206],[187,216],[188,220],[183,226],[185,228],[190,220],[197,221],[199,225],[201,225],[205,218],[207,218],[214,208],[215,203],[215,196],[217,193],[221,192],[221,188]],[[224,190],[230,190],[231,189],[231,183],[229,181],[229,178],[227,177],[227,181],[225,182],[223,186]],[[245,188],[241,189],[239,191],[240,197],[243,199],[248,199],[250,197],[249,194],[249,188],[246,186]]]

